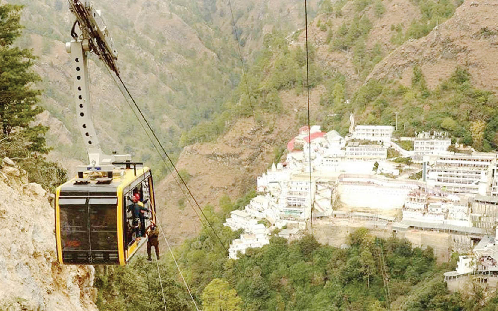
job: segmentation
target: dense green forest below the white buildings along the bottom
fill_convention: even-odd
[[[228,247],[238,234],[222,226],[225,213],[215,213],[212,207],[205,211]],[[495,310],[497,306],[498,298],[487,299],[477,283],[468,292],[447,290],[443,272],[456,267],[455,256],[437,264],[430,247],[413,248],[395,237],[377,238],[365,228],[350,234],[349,245],[322,245],[309,235],[291,243],[273,236],[270,244],[248,249],[234,261],[209,228],[185,241],[175,254],[193,299],[203,310]],[[167,308],[195,310],[173,262],[161,261],[159,271]],[[100,310],[163,306],[156,265],[143,257],[124,268],[98,269],[96,286]]]

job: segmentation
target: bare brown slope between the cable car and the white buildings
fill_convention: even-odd
[[[318,111],[316,103],[323,92],[323,87],[310,92],[312,111]],[[252,117],[240,118],[216,141],[183,149],[176,167],[188,173],[185,180],[201,207],[209,204],[216,208],[223,196],[236,201],[254,189],[256,177],[274,161],[275,148],[284,147],[297,134],[299,126],[304,125],[299,123],[298,115],[307,110],[306,96],[296,96],[294,91],[283,91],[279,96],[288,113],[271,116],[264,126],[256,126]],[[196,235],[201,227],[193,210],[200,214],[197,206],[185,199],[188,193],[178,183],[179,179],[170,174],[156,186],[160,194],[159,215],[174,242]]]

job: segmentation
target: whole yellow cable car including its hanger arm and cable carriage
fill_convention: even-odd
[[[78,166],[78,176],[56,190],[57,258],[61,264],[124,265],[146,242],[145,228],[156,220],[152,172],[131,162],[128,154],[106,155],[101,150],[91,117],[87,52],[97,54],[117,76],[118,54],[100,11],[90,1],[69,4],[77,20],[66,50],[71,55],[77,124],[90,164]],[[75,32],[76,24],[81,35]],[[130,208],[133,203],[142,207]]]

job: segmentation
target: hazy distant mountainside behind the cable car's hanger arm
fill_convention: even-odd
[[[50,154],[72,169],[73,160],[86,155],[75,129],[75,108],[64,43],[71,39],[74,17],[64,0],[9,0],[24,5],[22,24],[26,34],[16,41],[33,48],[39,57],[36,72],[43,77],[41,106],[48,111],[40,119],[52,129]],[[313,2],[313,1],[312,1]],[[248,42],[243,59],[250,61],[265,32],[282,22],[284,31],[295,29],[290,21],[297,2],[272,1],[286,19],[268,15],[264,1],[233,1],[238,37]],[[242,68],[232,26],[230,7],[223,1],[93,1],[102,9],[119,53],[121,76],[145,112],[173,158],[179,153],[183,131],[224,110],[231,90],[241,79]],[[244,14],[243,14],[244,13]],[[249,26],[257,20],[259,28]],[[264,28],[264,29],[263,29]],[[249,29],[252,31],[249,33]],[[250,46],[250,48],[249,48]],[[90,61],[93,114],[105,152],[131,153],[150,161],[159,177],[167,172],[105,67]],[[157,163],[157,165],[155,164]]]

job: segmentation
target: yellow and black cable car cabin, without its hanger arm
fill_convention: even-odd
[[[112,175],[102,178],[101,172],[85,172],[83,178],[57,188],[55,229],[61,264],[124,265],[147,240],[138,238],[137,232],[144,232],[156,219],[150,169],[128,165],[114,169]],[[136,228],[133,208],[129,208],[135,194],[149,209],[144,212],[144,228],[141,221]]]

